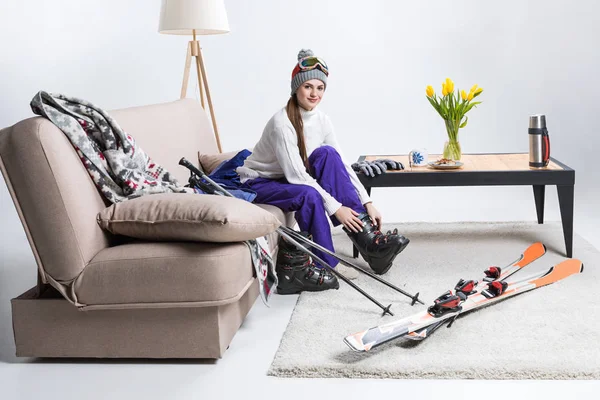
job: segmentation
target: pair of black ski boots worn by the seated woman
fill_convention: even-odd
[[[373,225],[368,214],[363,213],[358,217],[363,222],[362,231],[350,232],[346,228],[344,231],[371,269],[376,274],[385,274],[392,266],[394,258],[408,245],[409,240],[398,235],[397,229],[386,234],[381,233]],[[306,232],[301,233],[311,239]],[[279,294],[317,292],[338,289],[340,286],[338,279],[328,268],[317,267],[308,254],[283,238],[279,242],[276,269]]]

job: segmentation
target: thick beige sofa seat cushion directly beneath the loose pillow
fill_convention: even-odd
[[[133,242],[100,251],[73,290],[88,306],[213,304],[235,301],[252,280],[245,243]]]

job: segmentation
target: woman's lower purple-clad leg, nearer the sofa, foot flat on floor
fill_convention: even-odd
[[[295,211],[300,229],[310,233],[316,243],[334,251],[323,199],[314,188],[307,185],[294,185],[285,179],[264,178],[249,180],[244,183],[244,186],[256,192],[257,196],[254,199],[256,203],[270,204],[284,212]],[[337,265],[336,258],[319,250],[310,250],[330,266]]]

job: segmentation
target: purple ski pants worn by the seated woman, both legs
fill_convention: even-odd
[[[310,174],[327,193],[358,213],[366,212],[342,158],[333,147],[318,147],[308,158],[308,163]],[[246,181],[243,186],[257,193],[255,203],[270,204],[284,212],[295,211],[300,229],[309,232],[316,243],[334,251],[323,198],[316,189],[308,185],[288,183],[285,178],[256,178]],[[340,224],[335,216],[330,218],[333,226]],[[315,249],[309,250],[332,267],[338,263],[338,260],[328,254]]]

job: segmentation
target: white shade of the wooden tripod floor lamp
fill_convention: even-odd
[[[224,0],[162,0],[158,32],[171,35],[229,32]]]

